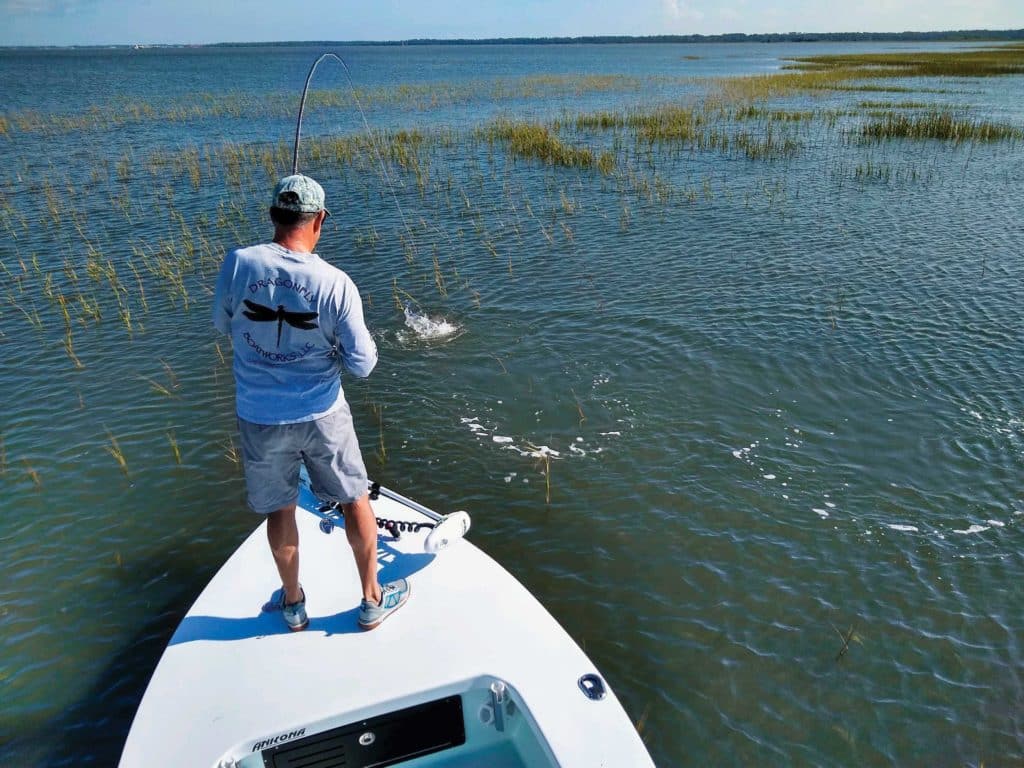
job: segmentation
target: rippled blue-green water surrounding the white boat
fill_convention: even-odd
[[[863,145],[853,116],[794,126],[800,151],[769,162],[627,139],[607,178],[459,137],[898,47],[352,48],[376,129],[457,137],[422,186],[389,158],[414,233],[374,163],[311,143],[301,161],[335,214],[321,253],[381,347],[344,382],[372,474],[471,511],[658,765],[1024,761],[1020,146]],[[0,55],[5,765],[114,764],[176,623],[256,523],[208,305],[220,249],[267,234],[270,174],[206,157],[288,142],[318,52]],[[611,79],[580,86],[595,74]],[[394,95],[424,84],[447,95]],[[781,105],[910,98],[1024,124],[1021,78],[909,85],[942,92]],[[343,76],[325,65],[314,87]],[[142,103],[202,109],[126,112]],[[18,130],[29,111],[50,127]],[[307,121],[310,140],[361,125],[351,105]],[[193,148],[195,185],[153,160]],[[890,175],[858,176],[868,161]],[[46,274],[96,302],[98,321],[70,309],[82,368]]]

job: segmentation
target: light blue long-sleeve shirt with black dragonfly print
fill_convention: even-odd
[[[213,324],[234,347],[238,415],[255,424],[327,416],[344,402],[342,370],[361,378],[377,365],[351,279],[275,243],[224,257]]]

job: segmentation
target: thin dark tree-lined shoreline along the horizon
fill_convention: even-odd
[[[857,43],[857,42],[1012,42],[1024,41],[1020,30],[955,30],[947,32],[787,32],[726,35],[594,35],[586,37],[416,38],[412,40],[296,40],[244,43],[157,43],[109,45],[7,45],[0,50],[79,50],[119,48],[296,48],[309,46],[403,45],[614,45],[637,43]]]

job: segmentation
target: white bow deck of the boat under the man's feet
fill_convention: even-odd
[[[314,500],[304,490],[300,504]],[[378,517],[425,519],[392,499],[373,506]],[[279,614],[260,610],[280,587],[260,525],[172,637],[139,706],[123,768],[232,765],[273,743],[454,694],[465,694],[466,719],[475,721],[489,700],[478,691],[492,680],[507,683],[543,734],[546,762],[652,765],[610,689],[601,700],[581,689],[594,665],[470,542],[433,555],[423,551],[427,531],[399,541],[383,534],[380,580],[409,579],[411,597],[379,628],[361,632],[344,530],[325,535],[318,518],[301,510],[298,522],[309,627],[291,633]]]

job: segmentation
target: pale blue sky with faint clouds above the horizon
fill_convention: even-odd
[[[1024,0],[0,0],[0,45],[1024,28]]]

